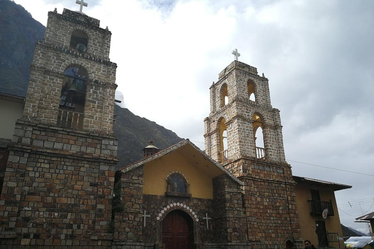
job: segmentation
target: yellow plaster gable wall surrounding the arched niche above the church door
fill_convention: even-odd
[[[213,199],[213,178],[224,172],[191,149],[192,147],[185,145],[177,151],[145,163],[143,194],[165,196],[166,178],[171,172],[177,171],[187,179],[192,197]]]

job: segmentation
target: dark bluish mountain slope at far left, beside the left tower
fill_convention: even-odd
[[[26,96],[35,42],[45,27],[21,5],[0,0],[0,92]]]

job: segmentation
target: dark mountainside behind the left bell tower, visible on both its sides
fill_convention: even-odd
[[[0,92],[25,97],[35,42],[44,38],[45,27],[21,5],[0,0]],[[118,167],[143,158],[150,138],[159,149],[182,141],[171,130],[115,106],[114,132],[118,137]]]

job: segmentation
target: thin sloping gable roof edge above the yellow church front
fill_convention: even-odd
[[[148,157],[148,158],[145,158],[145,159],[142,159],[142,160],[139,160],[137,162],[134,162],[130,165],[127,165],[123,168],[120,168],[119,170],[117,171],[121,171],[123,173],[125,172],[129,172],[133,169],[136,169],[140,166],[142,166],[143,164],[147,163],[147,162],[150,162],[152,160],[155,160],[159,157],[162,157],[162,156],[165,156],[167,154],[170,154],[176,150],[178,150],[179,148],[185,146],[185,145],[188,145],[188,146],[192,146],[193,149],[195,149],[197,152],[199,152],[203,157],[204,159],[207,159],[211,162],[211,164],[214,165],[214,167],[218,168],[219,170],[221,170],[224,174],[226,174],[229,178],[231,178],[232,180],[234,180],[235,182],[237,182],[238,184],[240,185],[244,185],[244,183],[239,180],[238,178],[236,178],[233,174],[231,174],[228,170],[226,170],[224,167],[221,166],[221,164],[219,164],[218,162],[216,162],[215,160],[213,160],[211,157],[209,157],[208,155],[206,155],[205,152],[203,152],[201,149],[199,149],[195,144],[193,144],[192,142],[190,142],[188,139],[182,141],[182,142],[178,142],[170,147],[168,147],[167,149],[165,150],[162,150],[162,151],[159,151],[158,153]]]

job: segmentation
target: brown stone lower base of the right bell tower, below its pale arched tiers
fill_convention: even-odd
[[[235,162],[243,169],[243,201],[253,248],[285,249],[287,238],[302,247],[291,167],[257,159]],[[233,166],[232,168],[237,168]]]

